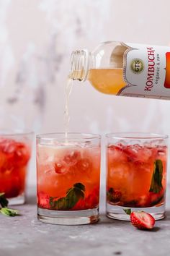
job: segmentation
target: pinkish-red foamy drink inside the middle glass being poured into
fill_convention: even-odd
[[[51,210],[53,215],[67,216],[72,212],[72,217],[76,218],[79,211],[83,211],[82,214],[98,211],[99,176],[99,145],[37,144],[38,213],[46,215],[45,210]]]

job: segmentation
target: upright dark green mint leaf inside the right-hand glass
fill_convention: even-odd
[[[161,191],[162,187],[162,177],[163,177],[163,164],[160,159],[154,162],[153,175],[151,180],[151,187],[149,192],[158,193]]]

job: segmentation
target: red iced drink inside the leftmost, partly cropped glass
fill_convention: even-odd
[[[9,203],[24,195],[30,153],[30,145],[25,142],[0,137],[0,192],[5,193]]]

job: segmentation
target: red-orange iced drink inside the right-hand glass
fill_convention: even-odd
[[[107,146],[107,205],[158,208],[166,197],[166,145]]]

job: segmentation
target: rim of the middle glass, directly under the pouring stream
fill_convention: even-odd
[[[65,132],[50,132],[50,133],[42,133],[39,135],[36,135],[36,138],[39,140],[57,140],[57,139],[61,139],[58,136],[63,136],[61,137],[64,140],[97,140],[97,139],[101,139],[101,135],[97,135],[94,133],[84,133],[84,132],[68,132],[67,135],[68,137],[66,137],[66,133]],[[69,137],[69,135],[75,135],[75,137]],[[76,137],[77,135],[77,137]],[[81,135],[81,137],[79,137]],[[56,137],[55,137],[56,136]]]

